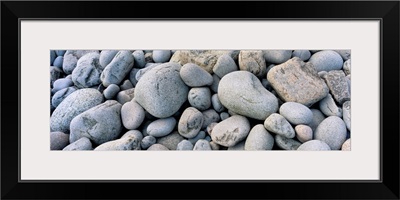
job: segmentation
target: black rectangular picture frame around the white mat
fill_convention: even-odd
[[[229,5],[230,7],[227,7]],[[2,199],[399,199],[398,1],[2,1]],[[152,9],[158,9],[154,11]],[[381,181],[19,182],[19,19],[380,19]],[[365,155],[368,156],[368,155]],[[225,188],[229,190],[226,191]],[[188,191],[191,196],[186,195]]]

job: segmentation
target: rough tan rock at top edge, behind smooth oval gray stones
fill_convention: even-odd
[[[235,60],[238,54],[239,51],[237,50],[178,50],[171,57],[170,62],[176,62],[180,65],[194,63],[212,74],[214,65],[220,56],[228,55]]]

